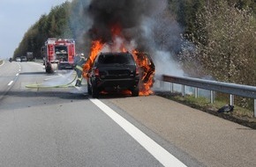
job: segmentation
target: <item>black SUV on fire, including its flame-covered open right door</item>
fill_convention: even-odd
[[[100,53],[88,70],[87,91],[93,98],[98,98],[101,91],[128,90],[134,97],[147,95],[153,76],[154,63],[148,54]]]

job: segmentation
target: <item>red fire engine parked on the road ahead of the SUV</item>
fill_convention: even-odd
[[[42,47],[42,54],[47,73],[56,69],[72,69],[75,41],[73,39],[49,38]]]

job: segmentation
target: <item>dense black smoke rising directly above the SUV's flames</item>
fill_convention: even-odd
[[[151,16],[157,4],[159,1],[155,0],[94,0],[87,9],[93,20],[89,36],[92,40],[111,42],[112,31],[120,31],[124,39],[133,39],[143,18]],[[114,27],[119,30],[113,30]]]

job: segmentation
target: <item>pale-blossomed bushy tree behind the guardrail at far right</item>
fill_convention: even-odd
[[[255,85],[256,33],[252,12],[227,2],[206,9],[197,15],[198,35],[192,36],[195,52],[184,47],[181,60],[193,60],[197,66],[200,63],[219,81]]]

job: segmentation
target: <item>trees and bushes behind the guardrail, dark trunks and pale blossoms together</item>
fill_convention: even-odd
[[[177,20],[184,25],[184,43],[177,60],[187,74],[256,85],[256,1],[174,0],[172,3],[176,4],[173,10]],[[253,100],[236,98],[236,104],[252,108]]]

